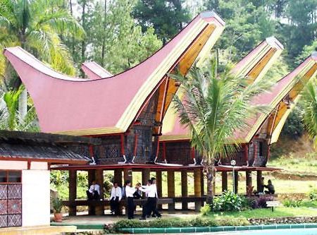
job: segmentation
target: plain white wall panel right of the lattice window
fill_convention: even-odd
[[[22,226],[49,225],[49,170],[22,171]]]

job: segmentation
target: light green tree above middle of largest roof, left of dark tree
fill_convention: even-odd
[[[133,6],[133,1],[128,0],[104,1],[104,5],[94,6],[89,21],[92,50],[88,57],[112,73],[139,64],[162,46],[153,28],[142,32],[135,23]]]

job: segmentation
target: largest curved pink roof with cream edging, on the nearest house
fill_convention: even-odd
[[[105,79],[72,78],[49,68],[20,47],[5,49],[5,56],[25,84],[45,133],[101,135],[124,133],[156,90],[178,89],[166,74],[176,66],[187,73],[203,58],[224,29],[214,12],[199,14],[154,55]],[[161,89],[163,90],[163,89]],[[165,93],[166,92],[162,92]],[[161,95],[163,117],[170,100]],[[159,101],[160,103],[160,101]]]

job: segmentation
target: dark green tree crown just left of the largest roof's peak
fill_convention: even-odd
[[[142,26],[143,32],[149,26],[166,44],[170,38],[182,30],[189,21],[189,13],[182,7],[182,0],[139,0],[135,5],[133,16]]]

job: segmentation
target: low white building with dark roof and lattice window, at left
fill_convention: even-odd
[[[38,234],[37,229],[74,230],[49,227],[49,169],[54,164],[86,164],[88,157],[64,145],[95,143],[94,138],[0,131],[0,228],[29,227],[30,234]]]

